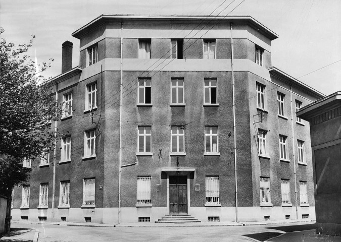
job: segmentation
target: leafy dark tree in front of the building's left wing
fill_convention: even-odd
[[[0,35],[4,32],[0,28]],[[27,55],[28,44],[0,39],[0,194],[7,196],[5,231],[10,235],[12,189],[25,184],[31,168],[23,160],[54,149],[56,131],[48,119],[57,119],[53,90],[39,73],[50,63],[38,65]],[[53,59],[50,59],[53,61]],[[39,84],[38,83],[43,83]]]

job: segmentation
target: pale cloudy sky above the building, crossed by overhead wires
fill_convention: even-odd
[[[0,0],[0,26],[5,29],[2,37],[16,45],[27,43],[34,34],[29,54],[34,59],[36,51],[39,63],[55,59],[44,74],[51,77],[61,73],[66,40],[74,44],[73,67],[79,65],[79,40],[71,33],[101,14],[217,15],[232,1]],[[242,1],[235,0],[220,15]],[[271,43],[272,66],[326,95],[341,91],[340,0],[245,0],[230,15],[250,15],[279,35]]]

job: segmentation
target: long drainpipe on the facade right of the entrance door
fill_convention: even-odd
[[[238,190],[237,190],[237,154],[235,141],[235,104],[234,104],[234,76],[233,76],[233,38],[232,38],[232,23],[231,28],[231,72],[232,72],[232,109],[233,109],[233,153],[234,153],[234,184],[235,184],[235,221],[238,222]]]

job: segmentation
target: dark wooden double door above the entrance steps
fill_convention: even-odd
[[[169,176],[169,213],[187,213],[187,176]]]

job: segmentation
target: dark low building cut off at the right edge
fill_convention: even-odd
[[[310,124],[316,233],[341,235],[341,92],[310,103],[297,113]]]

